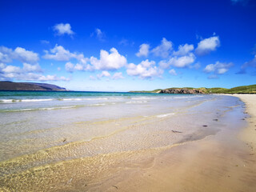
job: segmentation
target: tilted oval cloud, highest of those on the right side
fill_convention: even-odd
[[[211,51],[216,50],[218,46],[220,46],[218,36],[205,38],[201,42],[198,42],[198,47],[195,50],[195,53],[198,55],[209,54]]]

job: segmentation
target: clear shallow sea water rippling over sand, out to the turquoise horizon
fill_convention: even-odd
[[[136,166],[217,134],[242,105],[218,95],[0,92],[0,189],[84,189],[127,159]]]

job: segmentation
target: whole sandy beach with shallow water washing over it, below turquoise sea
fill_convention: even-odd
[[[3,191],[256,189],[255,95],[38,97],[2,103]]]

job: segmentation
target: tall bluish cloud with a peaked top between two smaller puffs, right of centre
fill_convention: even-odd
[[[173,50],[173,43],[167,41],[166,38],[162,38],[161,44],[151,51],[155,56],[167,58],[171,50]]]

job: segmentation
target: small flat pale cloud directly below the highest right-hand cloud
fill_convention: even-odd
[[[231,66],[233,66],[232,62],[216,62],[215,64],[207,65],[203,71],[206,73],[225,74]]]

